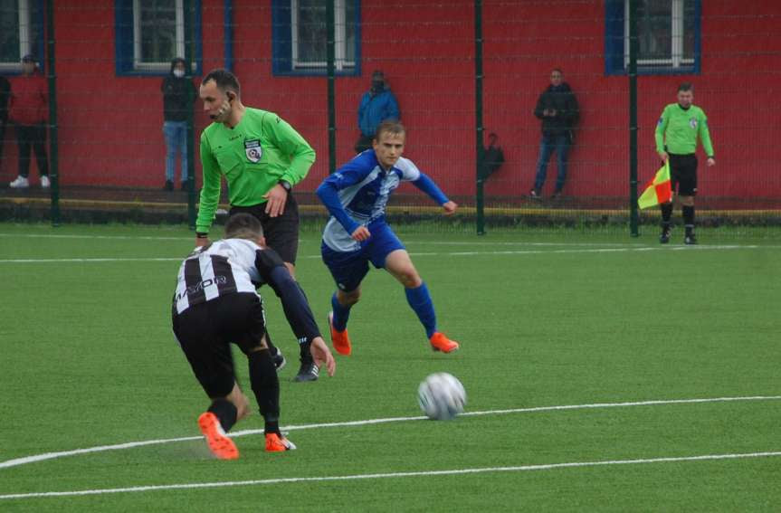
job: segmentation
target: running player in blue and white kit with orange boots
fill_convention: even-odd
[[[338,287],[331,298],[329,325],[334,348],[342,355],[352,351],[348,318],[360,298],[360,284],[369,271],[369,261],[404,285],[407,302],[423,324],[434,351],[451,353],[458,349],[457,342],[437,330],[428,288],[404,244],[386,223],[388,196],[401,182],[410,182],[431,196],[442,205],[445,215],[453,214],[458,207],[412,160],[402,157],[404,146],[404,126],[397,121],[383,122],[376,130],[374,148],[339,167],[317,190],[331,214],[323,232],[321,253]]]

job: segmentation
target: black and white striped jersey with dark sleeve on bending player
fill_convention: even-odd
[[[319,328],[298,283],[276,252],[246,239],[222,239],[195,248],[179,267],[173,309],[190,307],[237,292],[261,297],[268,284],[282,302],[285,317],[300,343],[319,337]]]

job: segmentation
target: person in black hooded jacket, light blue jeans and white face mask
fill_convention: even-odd
[[[166,136],[166,185],[174,190],[176,154],[182,160],[182,190],[187,187],[187,112],[195,100],[195,84],[185,78],[186,61],[180,57],[171,60],[171,72],[163,79],[163,134]]]

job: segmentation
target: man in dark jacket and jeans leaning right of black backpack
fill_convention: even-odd
[[[556,151],[558,176],[552,197],[557,198],[567,180],[567,153],[574,142],[573,129],[580,115],[575,94],[564,81],[564,73],[561,70],[556,68],[550,72],[550,85],[539,95],[534,115],[542,119],[542,141],[539,144],[537,176],[529,195],[533,198],[540,197],[542,185],[545,185],[548,175],[548,160]]]

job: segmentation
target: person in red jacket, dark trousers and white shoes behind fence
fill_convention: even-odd
[[[49,160],[46,157],[46,121],[49,119],[49,91],[46,78],[36,70],[36,60],[27,54],[22,58],[23,74],[11,81],[11,103],[8,117],[16,128],[19,145],[19,176],[9,184],[15,189],[30,186],[30,153],[35,152],[41,186],[48,187]]]

